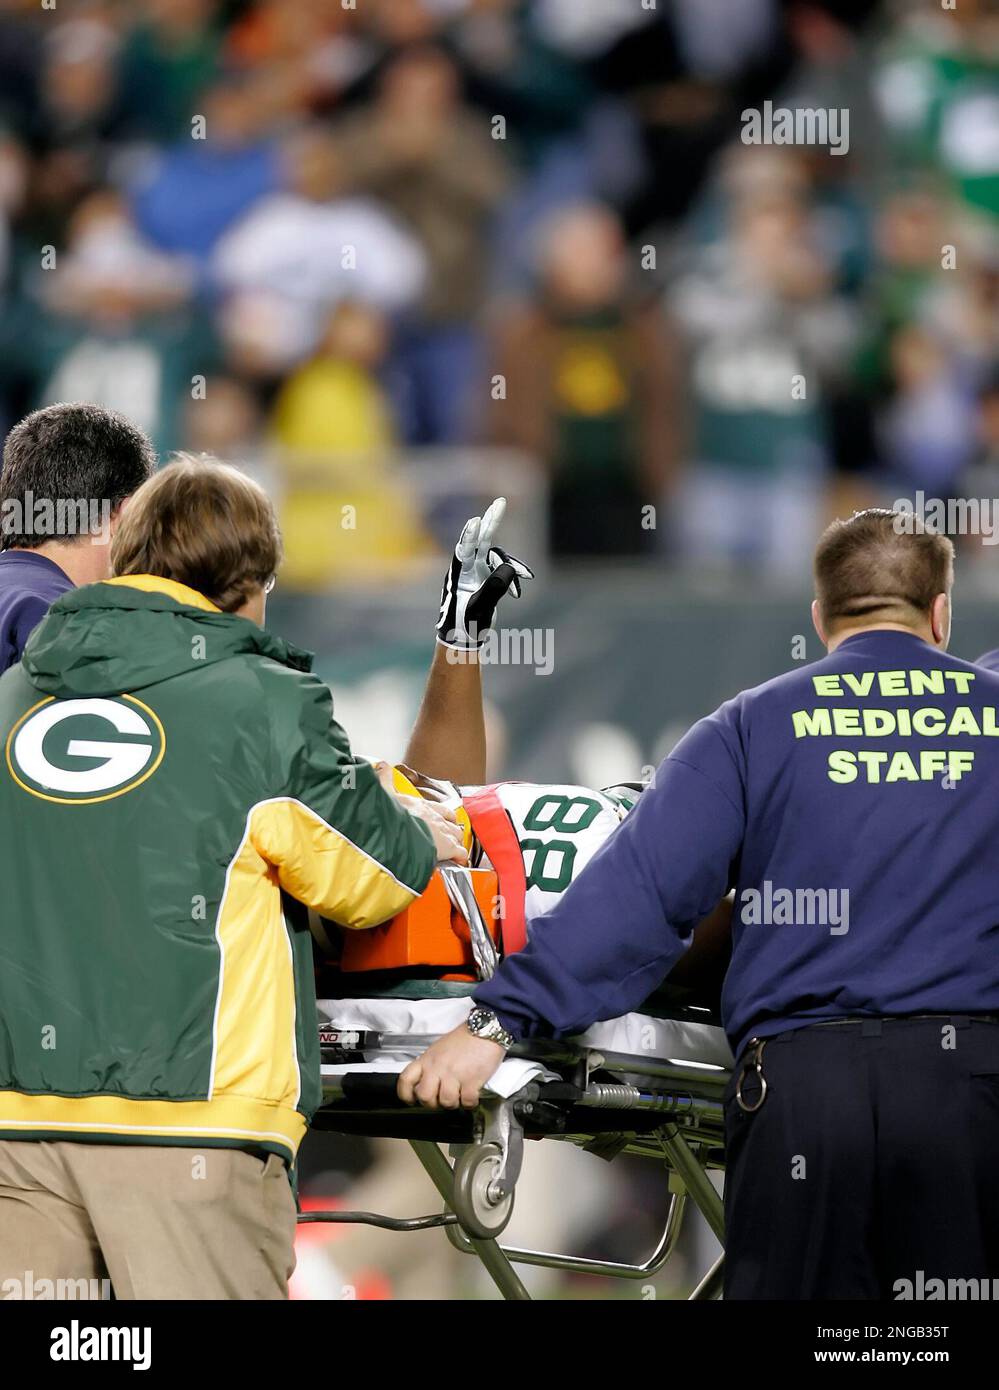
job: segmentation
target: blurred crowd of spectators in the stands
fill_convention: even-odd
[[[408,460],[484,446],[557,557],[800,575],[999,496],[998,64],[991,0],[0,0],[0,424],[267,471],[302,585],[429,549]]]

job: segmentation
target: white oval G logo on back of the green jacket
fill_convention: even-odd
[[[153,776],[165,749],[163,724],[132,695],[50,698],[11,730],[7,767],[32,796],[85,806],[133,791]]]

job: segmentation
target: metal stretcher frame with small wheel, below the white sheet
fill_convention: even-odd
[[[325,1008],[335,1017],[336,1004]],[[688,1200],[724,1245],[721,1197],[711,1170],[724,1172],[723,1093],[731,1072],[714,1062],[603,1052],[574,1041],[532,1040],[510,1056],[535,1061],[557,1080],[529,1081],[509,1098],[484,1097],[475,1111],[407,1106],[396,1095],[393,1072],[352,1072],[352,1056],[378,1052],[417,1055],[435,1036],[358,1034],[343,1030],[327,1041],[322,1105],[314,1127],[339,1134],[406,1140],[445,1204],[435,1216],[390,1218],[371,1212],[310,1212],[307,1220],[377,1225],[390,1230],[440,1226],[452,1245],[484,1265],[506,1300],[529,1300],[515,1265],[578,1275],[647,1280],[670,1261]],[[329,1036],[328,1036],[329,1037]],[[620,1154],[653,1158],[667,1169],[668,1205],[663,1232],[641,1264],[592,1259],[504,1245],[513,1213],[524,1143],[560,1140],[604,1159]],[[449,1145],[446,1155],[440,1145]],[[721,1295],[724,1252],[691,1293],[693,1301]]]

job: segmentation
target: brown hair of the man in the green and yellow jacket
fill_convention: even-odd
[[[235,613],[281,563],[271,499],[218,459],[176,455],[129,500],[111,541],[111,571],[158,574]]]

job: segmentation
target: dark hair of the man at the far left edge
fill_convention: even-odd
[[[74,505],[106,503],[117,512],[154,470],[149,436],[117,410],[57,404],[32,411],[14,425],[4,443],[0,550],[35,550],[50,539],[25,524],[29,499],[69,510]],[[11,513],[21,518],[19,527],[7,521]]]

